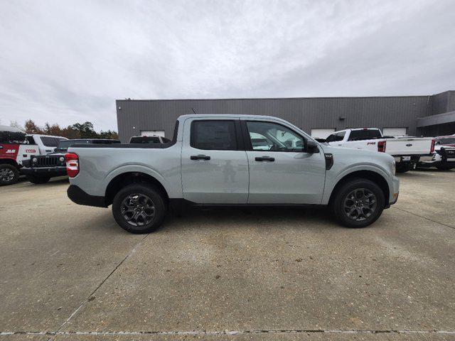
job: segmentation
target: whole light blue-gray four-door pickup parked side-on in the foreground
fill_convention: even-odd
[[[344,226],[365,227],[397,201],[400,184],[386,153],[319,144],[255,115],[183,115],[166,144],[76,144],[65,158],[68,197],[112,205],[132,233],[153,231],[182,205],[323,205]]]

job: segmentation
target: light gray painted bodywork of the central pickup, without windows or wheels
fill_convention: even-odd
[[[265,164],[252,160],[256,154],[272,153],[210,151],[213,155],[210,161],[193,161],[189,158],[191,155],[205,153],[190,146],[190,126],[195,119],[277,122],[314,141],[320,153],[274,152],[276,161]],[[185,198],[200,203],[326,205],[341,178],[354,171],[373,171],[387,181],[389,202],[396,200],[393,193],[398,193],[400,181],[392,174],[395,161],[386,153],[319,144],[298,127],[276,117],[198,114],[183,115],[178,121],[176,143],[168,148],[70,147],[68,151],[77,153],[80,160],[80,172],[70,178],[70,183],[89,195],[105,196],[107,186],[117,175],[139,172],[156,178],[171,199]],[[324,153],[333,154],[333,167],[329,171],[323,168]]]

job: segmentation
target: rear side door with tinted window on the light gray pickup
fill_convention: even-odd
[[[183,198],[245,204],[248,160],[238,119],[187,119],[181,153]]]

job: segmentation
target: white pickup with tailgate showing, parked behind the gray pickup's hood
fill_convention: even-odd
[[[418,162],[429,161],[434,156],[434,139],[431,137],[382,136],[377,128],[358,128],[335,131],[326,142],[330,146],[367,149],[390,154],[397,163],[397,172],[405,173]]]

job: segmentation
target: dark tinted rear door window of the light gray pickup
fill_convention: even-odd
[[[236,151],[234,121],[193,121],[191,146],[205,150]]]

